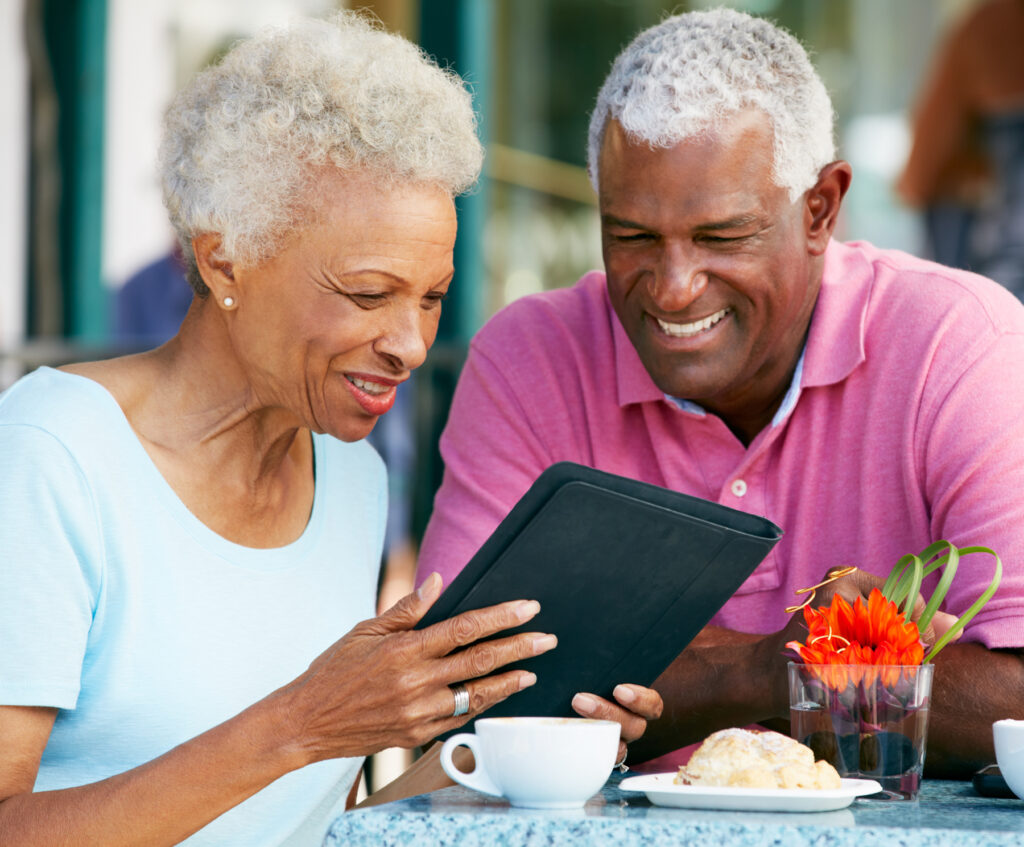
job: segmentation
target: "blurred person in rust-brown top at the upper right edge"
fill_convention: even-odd
[[[1024,0],[983,0],[938,51],[897,190],[933,258],[1024,298]]]

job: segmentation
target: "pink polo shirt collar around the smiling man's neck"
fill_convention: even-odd
[[[836,241],[829,243],[825,250],[821,290],[811,317],[807,344],[794,374],[794,383],[779,409],[780,413],[782,409],[786,410],[785,414],[792,411],[801,387],[842,382],[864,361],[864,327],[870,298],[870,263],[855,245]],[[623,329],[618,315],[608,300],[606,287],[604,298],[611,321],[620,407],[666,399]]]

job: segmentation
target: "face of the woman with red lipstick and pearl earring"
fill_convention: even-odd
[[[430,186],[332,174],[319,214],[276,256],[236,265],[231,343],[256,403],[366,437],[423,364],[452,281],[456,215]]]

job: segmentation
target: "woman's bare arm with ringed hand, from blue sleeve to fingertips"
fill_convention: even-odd
[[[432,577],[365,621],[298,679],[241,714],[139,767],[98,782],[33,793],[55,710],[0,707],[0,844],[171,845],[284,774],[315,761],[416,747],[531,685],[495,671],[545,652],[554,637],[521,633],[474,643],[529,621],[532,601],[412,628],[439,594]],[[468,646],[467,646],[468,645]],[[449,688],[464,682],[467,715]]]

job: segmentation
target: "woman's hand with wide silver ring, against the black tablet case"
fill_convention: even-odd
[[[554,635],[526,632],[476,642],[529,621],[540,603],[514,600],[414,630],[440,588],[440,577],[431,575],[271,694],[283,698],[284,719],[306,761],[418,747],[537,681],[528,671],[496,671],[552,649]],[[469,691],[469,712],[454,717],[450,686],[457,683]]]

